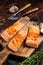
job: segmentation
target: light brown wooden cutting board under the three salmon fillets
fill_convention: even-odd
[[[40,36],[39,44],[41,43],[42,40],[43,40],[43,37]],[[6,45],[4,49],[0,52],[0,65],[2,65],[2,63],[6,60],[9,54],[27,58],[35,51],[35,48],[30,48],[30,47],[22,45],[20,49],[14,53],[12,50],[8,48],[7,46],[8,43],[5,43],[5,44]]]

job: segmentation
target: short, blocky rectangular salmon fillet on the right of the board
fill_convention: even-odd
[[[39,26],[30,25],[26,39],[26,45],[37,48],[39,46],[39,41],[40,41]]]

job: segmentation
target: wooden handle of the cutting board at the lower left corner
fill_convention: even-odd
[[[10,50],[8,48],[4,48],[3,51],[0,52],[0,65],[3,64],[9,54]]]

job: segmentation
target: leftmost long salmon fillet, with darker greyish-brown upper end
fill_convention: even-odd
[[[16,23],[5,29],[1,33],[1,37],[8,42],[27,22],[29,22],[27,16],[19,19]]]

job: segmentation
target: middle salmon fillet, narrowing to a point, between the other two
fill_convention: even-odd
[[[18,51],[18,49],[23,44],[28,32],[29,23],[26,24],[9,42],[8,47],[14,52]]]

